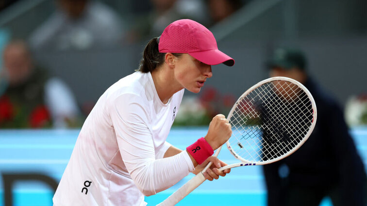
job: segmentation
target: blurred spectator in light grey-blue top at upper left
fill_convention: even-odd
[[[56,0],[57,10],[30,36],[32,49],[106,48],[122,43],[120,18],[95,0]]]

